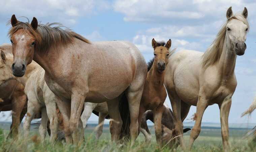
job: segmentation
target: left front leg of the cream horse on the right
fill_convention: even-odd
[[[204,96],[199,95],[197,105],[196,105],[196,120],[195,125],[190,133],[190,140],[189,140],[189,150],[191,150],[194,141],[199,136],[201,131],[201,122],[204,110],[208,106],[208,100],[205,99]]]

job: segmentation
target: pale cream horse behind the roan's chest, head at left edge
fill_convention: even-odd
[[[11,45],[9,45],[11,49]],[[39,133],[41,140],[44,140],[46,135],[46,126],[48,118],[50,119],[50,130],[51,130],[51,142],[57,139],[58,132],[58,115],[56,111],[56,98],[54,93],[48,88],[44,81],[44,70],[37,63],[32,62],[27,67],[27,73],[24,77],[14,77],[11,71],[11,65],[13,63],[13,55],[1,51],[1,58],[4,62],[1,62],[1,71],[4,75],[1,76],[0,81],[16,79],[21,82],[24,86],[24,92],[28,97],[28,109],[27,117],[24,121],[24,135],[28,136],[31,121],[33,118],[38,118],[41,112],[41,124],[39,126]],[[80,134],[81,135],[81,134]]]

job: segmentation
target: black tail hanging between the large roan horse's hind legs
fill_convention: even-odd
[[[123,139],[123,138],[129,139],[131,120],[130,120],[129,104],[128,104],[128,100],[125,93],[119,102],[119,112],[123,121],[120,139]]]

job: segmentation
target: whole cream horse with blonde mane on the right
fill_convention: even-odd
[[[221,134],[224,150],[229,149],[228,115],[231,97],[236,88],[234,73],[236,56],[246,50],[246,35],[249,29],[248,12],[233,15],[231,7],[226,13],[227,21],[205,53],[180,51],[169,59],[165,72],[165,86],[171,101],[175,129],[182,135],[183,120],[190,106],[197,106],[195,125],[190,134],[189,149],[201,130],[204,110],[214,103],[219,105]],[[183,136],[181,147],[185,149]]]

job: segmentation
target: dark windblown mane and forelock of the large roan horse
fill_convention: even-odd
[[[10,24],[10,21],[8,21],[7,24]],[[63,27],[65,29],[62,29]],[[60,23],[39,24],[37,29],[34,30],[29,22],[19,21],[14,27],[10,28],[8,36],[11,37],[17,30],[21,28],[23,28],[25,32],[28,32],[35,37],[35,49],[40,51],[40,53],[47,53],[47,51],[51,47],[57,49],[57,46],[60,44],[70,44],[74,41],[74,38],[79,39],[85,43],[91,44],[90,41],[87,40],[85,37],[77,34],[76,32],[63,26]]]

